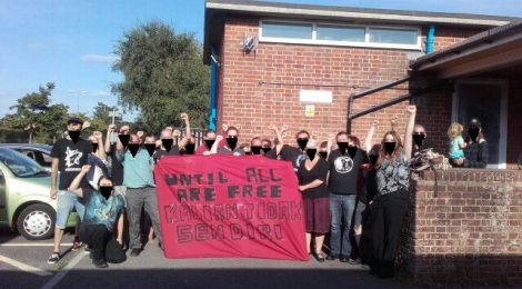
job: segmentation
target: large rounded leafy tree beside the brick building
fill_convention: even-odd
[[[119,102],[139,109],[139,120],[149,132],[180,126],[188,112],[194,127],[203,127],[209,110],[209,69],[201,46],[192,34],[174,33],[161,22],[150,22],[126,32],[114,53],[113,66],[124,80],[112,86]]]

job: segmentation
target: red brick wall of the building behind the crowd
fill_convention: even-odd
[[[288,124],[284,139],[293,143],[300,129],[309,130],[319,140],[328,134],[345,130],[348,97],[408,74],[405,50],[319,47],[260,42],[255,52],[243,53],[244,36],[258,36],[259,19],[228,18],[224,23],[221,47],[221,86],[219,90],[219,124],[241,126],[240,142],[254,136],[270,137],[271,123]],[[438,28],[435,49],[454,43],[476,32],[475,30]],[[284,84],[268,83],[283,82]],[[308,86],[318,84],[318,86]],[[328,87],[339,86],[339,87]],[[333,103],[300,103],[301,89],[330,90]],[[360,111],[409,92],[408,83],[395,89],[374,93],[354,102],[353,111]],[[432,103],[433,102],[433,103]],[[450,103],[450,106],[449,106]],[[305,104],[314,104],[315,116],[304,116]],[[390,118],[399,116],[398,130],[404,131],[408,101],[389,107],[354,120],[352,133],[364,139],[373,118],[380,121],[374,142],[379,142],[390,129]],[[433,108],[436,108],[434,110]],[[429,100],[419,109],[419,123],[423,123],[440,147],[445,147],[445,130],[450,123],[450,98]]]

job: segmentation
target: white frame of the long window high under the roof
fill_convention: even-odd
[[[289,23],[289,24],[311,24],[312,38],[311,39],[295,39],[295,38],[279,38],[279,37],[263,37],[263,22]],[[318,40],[317,27],[318,24],[335,26],[335,27],[354,27],[364,28],[364,42],[359,41],[338,41],[338,40]],[[409,29],[416,30],[415,44],[396,44],[396,43],[379,43],[370,42],[369,28],[382,29]],[[419,50],[422,51],[422,30],[420,27],[411,26],[361,26],[361,24],[344,24],[333,22],[317,22],[317,21],[299,21],[299,20],[281,20],[281,19],[261,19],[259,20],[259,41],[272,43],[292,43],[292,44],[312,44],[312,46],[338,46],[338,47],[361,47],[361,48],[382,48],[382,49],[403,49],[403,50]]]

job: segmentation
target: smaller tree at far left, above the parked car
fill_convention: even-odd
[[[66,127],[68,107],[63,104],[50,106],[49,96],[54,89],[53,82],[40,87],[38,92],[31,92],[17,100],[10,107],[16,113],[7,114],[2,119],[3,126],[29,132],[29,141],[33,134],[42,142],[51,142],[59,131]]]

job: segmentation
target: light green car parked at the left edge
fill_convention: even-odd
[[[49,197],[51,173],[34,160],[0,148],[0,226],[17,229],[28,240],[52,237],[57,200]],[[67,227],[74,227],[71,213]]]

